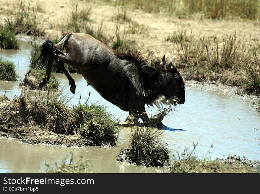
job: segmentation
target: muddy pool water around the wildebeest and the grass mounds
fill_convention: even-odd
[[[22,42],[22,49],[18,51],[0,50],[0,56],[14,61],[22,79],[30,61],[30,43]],[[71,75],[76,82],[76,94],[69,91],[66,77],[56,74],[63,95],[70,99],[69,105],[78,104],[80,96],[81,102],[84,102],[90,92],[89,103],[105,105],[115,119],[123,121],[128,116],[127,112],[100,97],[92,87],[87,87],[87,82],[81,75]],[[10,98],[18,95],[20,90],[17,86],[18,82],[0,81],[0,95],[6,93]],[[256,130],[260,129],[260,113],[256,113],[247,103],[247,100],[228,94],[203,91],[186,82],[186,102],[164,118],[163,123],[170,128],[164,130],[162,139],[174,156],[185,147],[192,148],[193,142],[198,142],[196,154],[199,157],[214,159],[236,154],[260,160],[260,130]],[[147,110],[151,115],[156,109]],[[133,167],[115,161],[120,150],[129,144],[129,131],[129,128],[123,128],[119,134],[118,146],[112,148],[31,146],[1,138],[0,172],[42,172],[46,169],[45,164],[54,166],[55,162],[61,162],[70,151],[74,151],[75,159],[80,155],[89,159],[92,162],[92,172],[163,172],[164,168]]]

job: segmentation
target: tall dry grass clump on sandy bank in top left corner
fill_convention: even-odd
[[[5,27],[15,34],[23,33],[26,35],[43,36],[45,32],[39,27],[37,12],[39,7],[25,6],[23,1],[19,1],[19,8],[14,10],[14,18],[7,17]]]

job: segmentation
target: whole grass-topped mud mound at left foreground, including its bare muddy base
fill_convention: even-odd
[[[88,111],[76,106],[69,108],[56,99],[37,100],[19,96],[9,100],[1,96],[0,136],[17,138],[29,144],[115,146],[118,127],[107,113],[100,112],[103,118],[100,120],[92,114],[94,106],[80,106]]]

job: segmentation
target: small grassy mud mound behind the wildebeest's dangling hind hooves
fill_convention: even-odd
[[[45,84],[43,87],[39,87],[39,82],[42,81],[44,77],[44,72],[39,69],[29,69],[27,73],[25,74],[25,78],[23,81],[19,84],[19,87],[30,89],[30,90],[48,90],[51,89],[52,91],[58,91],[58,81],[55,79],[55,76],[53,73],[51,73],[50,80],[47,84]]]

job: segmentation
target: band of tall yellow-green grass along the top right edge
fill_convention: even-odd
[[[211,19],[258,19],[260,16],[259,0],[118,0],[115,4],[179,18],[192,18],[192,14],[196,13]]]

